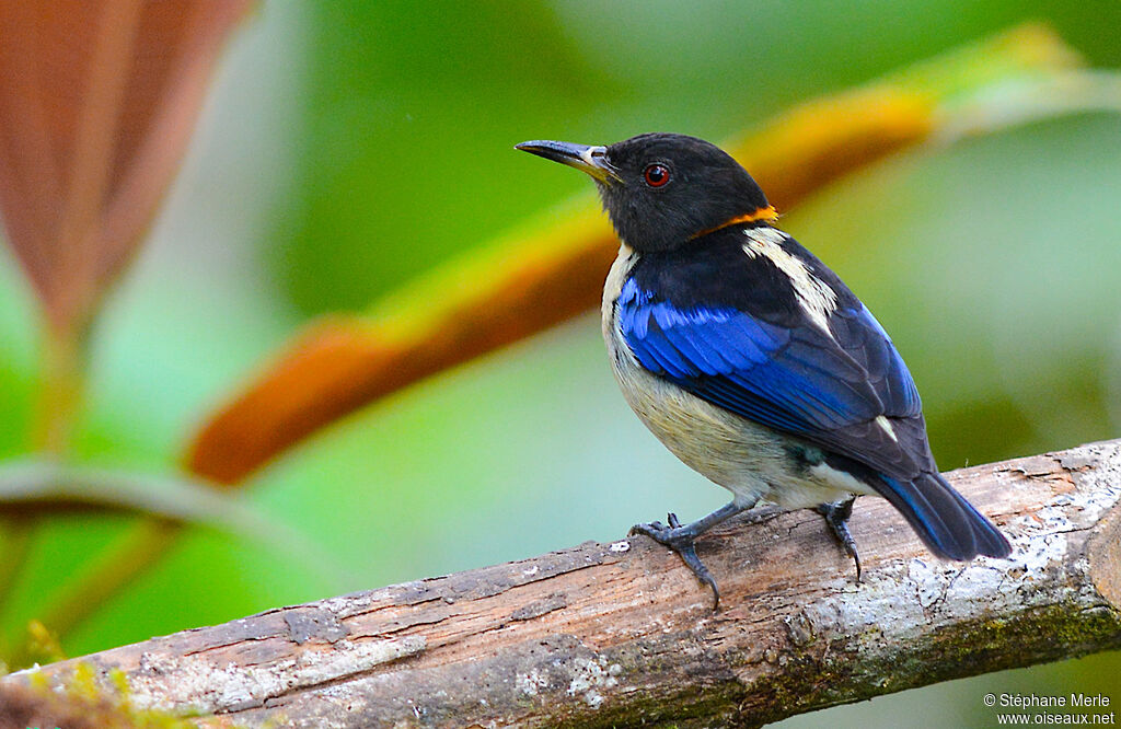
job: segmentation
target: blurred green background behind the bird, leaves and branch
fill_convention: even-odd
[[[1092,65],[1121,66],[1115,0],[265,2],[99,324],[77,451],[174,472],[191,428],[307,317],[365,308],[587,192],[515,142],[729,139],[1026,19],[1048,20]],[[784,211],[784,227],[892,333],[951,470],[1121,434],[1119,195],[1121,116],[1085,114],[893,157]],[[0,452],[17,456],[36,312],[3,256]],[[612,539],[724,493],[633,417],[589,314],[321,432],[245,497],[330,561],[192,529],[67,653]],[[127,524],[44,529],[12,625]],[[1121,658],[1102,655],[787,723],[991,726],[988,691],[1115,703],[1117,675]]]

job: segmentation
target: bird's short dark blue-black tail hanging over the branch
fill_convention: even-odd
[[[992,522],[939,473],[924,472],[911,481],[880,479],[887,488],[878,490],[938,556],[965,561],[979,554],[1004,557],[1012,551]]]

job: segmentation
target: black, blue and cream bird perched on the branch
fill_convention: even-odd
[[[815,507],[856,563],[856,495],[898,509],[939,557],[1003,557],[1004,536],[938,473],[918,390],[891,339],[836,274],[775,227],[719,147],[647,133],[609,147],[527,141],[587,173],[621,246],[603,336],[627,402],[687,465],[732,492],[688,525],[639,524],[720,591],[705,529],[760,500]]]

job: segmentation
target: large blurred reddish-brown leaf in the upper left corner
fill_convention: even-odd
[[[55,329],[156,212],[249,0],[0,3],[0,213]]]

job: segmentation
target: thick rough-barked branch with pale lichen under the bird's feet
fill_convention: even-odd
[[[645,537],[419,580],[154,638],[78,664],[202,726],[754,726],[1121,646],[1121,441],[964,469],[1009,560],[939,562],[881,499],[864,579],[809,511],[701,543],[723,609]],[[120,674],[117,674],[118,676]],[[274,722],[269,725],[268,722]]]

